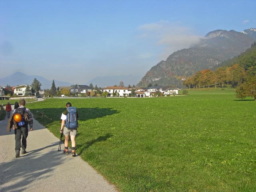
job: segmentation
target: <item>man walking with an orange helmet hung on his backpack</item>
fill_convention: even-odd
[[[15,134],[15,157],[20,157],[20,147],[22,148],[21,154],[26,154],[27,137],[28,137],[28,124],[30,131],[33,130],[33,118],[30,110],[25,107],[26,101],[20,100],[19,107],[14,109],[12,118],[15,124],[12,125]],[[20,144],[21,141],[21,144]]]

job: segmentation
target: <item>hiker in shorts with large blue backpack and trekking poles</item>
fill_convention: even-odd
[[[66,104],[66,110],[62,113],[61,118],[60,133],[64,134],[64,154],[68,154],[68,140],[70,136],[71,140],[71,154],[73,157],[76,156],[76,132],[78,128],[78,113],[75,107],[72,107],[72,104],[68,102]]]

